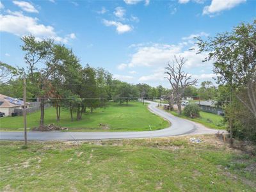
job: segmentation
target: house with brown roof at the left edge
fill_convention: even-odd
[[[15,115],[15,109],[23,109],[23,105],[23,100],[0,94],[0,112],[5,116]],[[26,102],[26,107],[28,108],[28,106],[29,103]]]

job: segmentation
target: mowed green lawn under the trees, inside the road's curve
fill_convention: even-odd
[[[38,127],[40,111],[28,115],[28,127]],[[100,126],[100,123],[103,126]],[[141,102],[129,102],[126,104],[116,104],[109,102],[106,108],[99,108],[93,113],[87,112],[82,116],[82,120],[71,122],[70,112],[61,110],[61,120],[56,121],[56,109],[45,109],[45,124],[55,124],[61,127],[68,127],[68,131],[150,131],[163,129],[169,123],[160,116],[151,113],[147,104]],[[23,131],[23,116],[8,116],[0,119],[1,131]],[[151,129],[150,129],[151,128]]]

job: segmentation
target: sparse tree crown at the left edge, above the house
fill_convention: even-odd
[[[0,61],[0,86],[10,83],[17,74],[16,68]]]

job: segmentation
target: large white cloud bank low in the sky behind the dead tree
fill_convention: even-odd
[[[138,78],[138,81],[145,83],[156,84],[156,82],[166,80],[164,77],[165,67],[170,61],[172,65],[173,56],[184,57],[186,63],[184,70],[187,72],[195,72],[193,78],[197,79],[211,79],[214,74],[210,74],[212,68],[212,61],[202,63],[202,60],[207,56],[207,52],[196,54],[198,47],[195,46],[195,36],[206,36],[207,33],[192,34],[182,38],[179,44],[133,44],[130,49],[134,49],[131,58],[127,63],[122,63],[125,68],[143,67],[145,70],[151,70],[148,75]],[[175,62],[173,63],[176,64]],[[204,72],[202,72],[204,67]],[[209,74],[207,74],[209,72]],[[196,74],[196,75],[195,75]],[[194,76],[195,75],[195,76]]]

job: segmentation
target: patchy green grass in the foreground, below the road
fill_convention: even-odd
[[[1,141],[0,191],[255,191],[255,157],[200,139]]]

